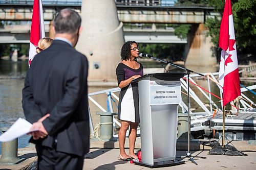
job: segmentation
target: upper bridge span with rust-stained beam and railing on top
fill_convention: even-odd
[[[42,0],[45,21],[67,7],[81,10],[82,0]],[[176,5],[177,0],[115,0],[118,18],[123,23],[204,23],[219,15],[213,7]],[[0,0],[0,20],[31,20],[32,0]]]

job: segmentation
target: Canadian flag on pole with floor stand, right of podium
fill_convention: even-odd
[[[223,88],[222,145],[219,145],[219,147],[212,147],[209,154],[230,155],[231,152],[233,156],[242,156],[243,153],[230,149],[231,147],[229,146],[229,143],[231,142],[228,138],[226,138],[228,143],[225,145],[225,107],[229,102],[241,95],[231,0],[225,1],[220,27],[219,47],[222,49],[219,71],[219,82]]]

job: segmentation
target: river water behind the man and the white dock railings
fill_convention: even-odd
[[[22,109],[22,89],[24,87],[24,78],[26,76],[26,71],[28,69],[27,60],[22,61],[18,60],[17,62],[12,62],[11,60],[0,60],[0,128],[1,127],[10,127],[18,117],[24,117],[23,109]],[[192,69],[192,68],[190,68]],[[195,68],[194,70],[199,70],[200,68]],[[216,68],[212,68],[216,71]],[[201,72],[205,72],[202,70]],[[207,81],[198,80],[197,81],[202,87],[207,89]],[[244,85],[252,85],[253,83],[241,82]],[[191,85],[191,84],[190,84]],[[117,87],[117,86],[115,86]],[[89,87],[89,93],[96,92],[100,90],[115,88],[115,87]],[[213,87],[213,83],[211,83],[211,87]],[[199,90],[196,87],[192,87],[193,90],[197,93]],[[211,88],[212,92],[219,95],[219,89],[217,87]],[[118,96],[118,92],[115,93]],[[245,93],[250,99],[254,102],[254,95],[249,92]],[[186,95],[182,96],[183,101],[186,103]],[[204,99],[202,94],[199,94],[199,98],[203,102],[207,102],[207,99]],[[103,108],[106,108],[106,94],[100,94],[93,96],[93,99],[97,101]],[[219,99],[213,98],[212,100],[218,101]],[[113,109],[117,111],[117,101],[113,102]],[[218,104],[220,105],[220,103]],[[91,116],[93,125],[98,124],[100,121],[100,116],[96,115],[96,112],[101,111],[98,107],[96,107],[91,101],[89,101]],[[202,111],[201,108],[198,108],[195,101],[191,99],[191,108],[197,109],[196,111]],[[201,109],[201,110],[200,110]],[[0,132],[1,133],[1,132]],[[18,138],[18,148],[24,148],[29,143],[30,136],[24,135]],[[0,145],[2,143],[0,142]],[[0,148],[1,154],[1,148]]]

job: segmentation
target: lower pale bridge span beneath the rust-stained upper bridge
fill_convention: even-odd
[[[12,25],[0,28],[0,43],[29,43],[30,25]],[[46,36],[49,24],[45,25]],[[187,43],[187,39],[178,38],[173,28],[123,28],[125,41],[134,40],[138,43]]]

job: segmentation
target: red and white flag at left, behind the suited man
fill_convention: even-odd
[[[42,1],[34,0],[32,23],[30,30],[30,45],[29,45],[29,66],[34,56],[36,55],[36,47],[38,41],[45,37],[44,17],[42,15]]]

